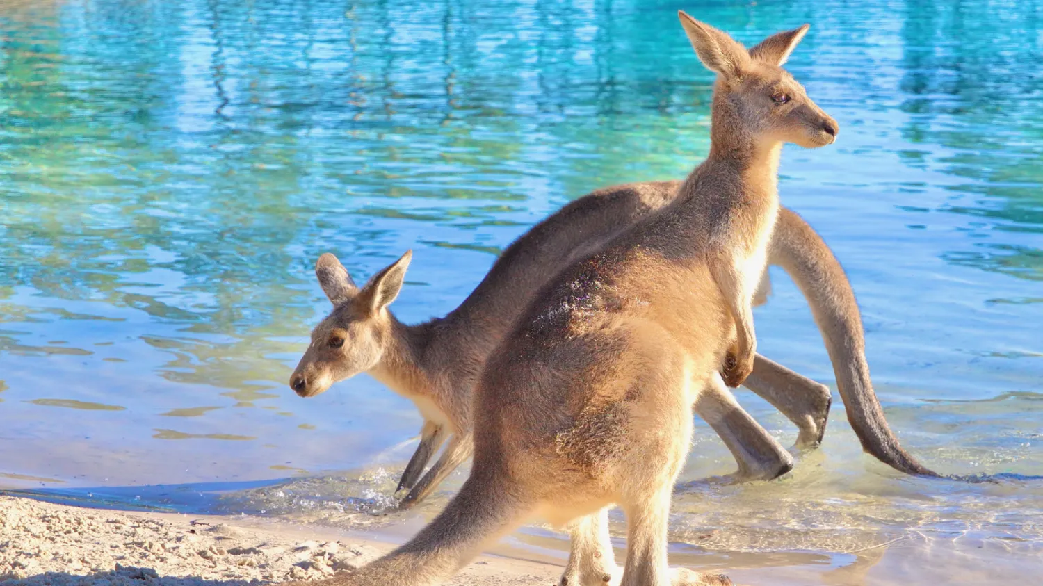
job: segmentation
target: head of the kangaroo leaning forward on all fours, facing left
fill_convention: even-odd
[[[377,366],[391,335],[387,307],[398,296],[413,257],[401,259],[359,289],[347,269],[330,252],[315,263],[315,276],[333,303],[333,311],[312,329],[312,343],[290,376],[290,388],[302,397],[315,396],[338,381]]]

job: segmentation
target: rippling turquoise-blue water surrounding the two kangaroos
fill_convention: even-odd
[[[433,514],[463,472],[417,513],[357,512],[387,503],[410,404],[368,376],[286,387],[328,309],[311,267],[334,251],[365,278],[412,248],[393,309],[422,320],[569,199],[683,176],[711,78],[679,7],[747,43],[811,23],[789,68],[842,131],[787,147],[780,191],[848,270],[892,426],[941,472],[1043,473],[1038,2],[7,0],[0,487],[351,528]],[[760,349],[832,384],[798,292],[774,286]],[[902,478],[842,411],[792,478],[699,480],[731,466],[699,434],[672,524],[694,564],[846,584],[927,580],[908,562],[925,552],[1016,578],[1043,553],[1041,483]]]

